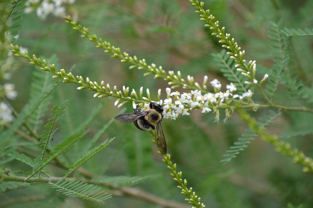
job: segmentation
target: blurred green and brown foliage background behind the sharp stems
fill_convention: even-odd
[[[274,64],[267,37],[268,22],[283,19],[288,28],[312,28],[313,1],[231,1],[204,0],[205,9],[219,21],[220,28],[230,33],[242,50],[246,60],[257,61],[257,71],[262,78]],[[155,63],[163,69],[180,70],[184,78],[187,75],[202,83],[203,76],[208,81],[218,79],[222,83],[222,91],[226,89],[228,80],[223,77],[214,63],[212,53],[221,51],[218,39],[211,36],[212,31],[204,27],[205,22],[194,12],[195,8],[187,0],[116,0],[76,1],[70,15],[79,24],[89,29],[111,45],[120,47],[131,56],[146,59],[148,65]],[[23,15],[22,29],[17,41],[19,46],[27,47],[28,53],[36,54],[41,59],[56,64],[56,69],[69,70],[72,73],[89,77],[100,83],[104,80],[111,88],[118,90],[122,86],[139,92],[141,86],[149,88],[151,99],[156,100],[157,90],[162,89],[161,98],[166,98],[165,89],[169,87],[164,80],[154,80],[152,75],[144,77],[145,71],[129,70],[129,64],[119,59],[110,58],[111,54],[103,49],[95,48],[95,44],[80,38],[81,33],[75,31],[64,22],[64,19],[49,16],[46,21],[38,19],[35,13]],[[300,77],[305,85],[312,82],[312,37],[295,37],[292,39],[293,52]],[[52,57],[52,58],[51,58]],[[19,95],[11,104],[19,112],[29,99],[30,80],[34,66],[22,58],[16,59],[18,70],[13,74],[12,83],[16,85]],[[258,68],[259,67],[259,68]],[[43,72],[44,73],[44,72]],[[63,118],[60,131],[70,134],[88,117],[104,99],[93,98],[89,90],[77,90],[78,86],[62,83],[54,94],[51,108],[69,99],[66,117]],[[211,91],[213,89],[209,88]],[[184,89],[178,91],[187,92]],[[279,104],[293,105],[280,89],[277,96]],[[144,95],[145,96],[145,95]],[[262,96],[255,90],[254,102],[264,103]],[[101,114],[94,120],[92,127],[81,143],[88,143],[97,129],[109,119],[119,114],[120,109],[110,99]],[[296,105],[296,104],[295,104]],[[124,106],[126,112],[132,111],[131,104]],[[309,106],[312,107],[312,106]],[[267,113],[268,109],[250,110],[255,118]],[[234,113],[227,124],[214,123],[215,114],[201,114],[201,110],[193,110],[190,116],[180,116],[176,121],[164,119],[162,127],[167,141],[167,153],[171,154],[173,163],[177,163],[177,171],[188,181],[201,197],[201,202],[210,208],[218,207],[287,207],[291,202],[295,207],[301,203],[305,207],[313,206],[312,174],[303,173],[300,165],[292,163],[290,158],[275,152],[273,146],[256,138],[238,157],[226,164],[223,154],[244,133],[247,125]],[[47,119],[49,116],[47,116]],[[221,121],[224,114],[221,111]],[[268,127],[272,134],[283,134],[295,129],[312,126],[312,117],[305,113],[284,113]],[[116,137],[105,150],[101,151],[83,167],[94,174],[107,176],[148,176],[148,180],[136,185],[136,188],[181,203],[185,196],[177,188],[176,181],[170,176],[167,165],[162,162],[156,146],[151,142],[148,132],[139,131],[133,124],[113,123],[103,136]],[[62,138],[54,138],[51,145]],[[313,156],[312,135],[286,139],[293,147]],[[70,157],[75,157],[72,148]],[[75,158],[73,159],[73,161]],[[16,162],[15,165],[21,163]],[[62,171],[50,167],[55,176]],[[20,169],[23,169],[21,167]],[[104,189],[106,189],[104,187]],[[0,199],[18,198],[20,196],[44,196],[41,201],[24,203],[23,207],[155,207],[154,204],[133,197],[113,196],[104,205],[78,198],[66,198],[50,189],[46,184],[9,191]],[[47,201],[48,200],[48,201]],[[1,203],[0,203],[1,204]],[[16,203],[8,207],[21,207]]]

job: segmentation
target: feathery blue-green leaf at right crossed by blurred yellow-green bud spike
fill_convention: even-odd
[[[275,113],[275,111],[270,110],[269,114],[264,114],[263,117],[259,118],[260,122],[257,122],[257,125],[259,126],[259,129],[264,129],[267,125],[270,123],[273,123],[274,120],[278,119],[278,117],[281,115],[281,112]],[[255,137],[258,136],[258,133],[255,132],[253,129],[246,129],[247,133],[243,133],[241,138],[238,138],[238,142],[234,142],[234,146],[230,147],[230,150],[226,150],[229,154],[223,155],[224,157],[228,157],[221,162],[231,161],[234,157],[237,157],[237,155],[243,151],[245,148],[248,147],[248,144],[251,143],[252,140],[255,139]]]

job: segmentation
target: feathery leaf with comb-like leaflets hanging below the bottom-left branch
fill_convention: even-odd
[[[66,196],[79,197],[91,201],[104,203],[104,200],[112,197],[111,194],[107,194],[105,191],[100,191],[101,188],[97,188],[97,186],[94,186],[93,184],[75,180],[70,181],[67,179],[64,182],[58,181],[55,184],[49,182],[49,185]]]

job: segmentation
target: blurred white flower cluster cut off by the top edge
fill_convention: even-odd
[[[47,18],[49,14],[53,14],[56,17],[64,17],[65,10],[68,5],[71,5],[75,0],[28,0],[25,3],[25,13],[31,13],[36,10],[37,16],[43,20]]]

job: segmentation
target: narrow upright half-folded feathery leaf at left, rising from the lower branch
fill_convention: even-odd
[[[64,111],[68,105],[68,100],[65,100],[61,105],[55,105],[52,108],[51,115],[54,115],[52,118],[50,118],[49,123],[47,123],[44,127],[46,128],[44,130],[44,134],[40,136],[40,146],[43,147],[40,151],[41,154],[38,156],[38,161],[41,163],[44,160],[44,155],[48,149],[49,141],[52,138],[52,135],[57,130],[57,126],[64,114]],[[39,164],[40,165],[40,164]]]

